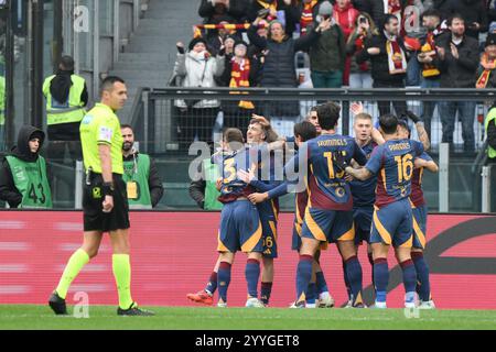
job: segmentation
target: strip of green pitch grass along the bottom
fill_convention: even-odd
[[[147,307],[148,308],[148,307]],[[0,305],[6,329],[496,329],[496,310],[420,310],[407,318],[402,309],[247,309],[152,307],[155,317],[117,317],[115,307],[90,306],[89,318],[57,317],[44,306]],[[69,308],[69,312],[72,307]]]

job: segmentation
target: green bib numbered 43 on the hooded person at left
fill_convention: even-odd
[[[46,177],[46,164],[42,156],[36,162],[28,163],[20,158],[8,155],[10,172],[15,188],[22,195],[19,208],[52,208],[52,193],[48,178]]]

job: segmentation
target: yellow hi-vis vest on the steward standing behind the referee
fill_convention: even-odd
[[[80,95],[85,89],[85,79],[77,75],[72,75],[73,86],[69,89],[67,101],[56,101],[50,92],[50,85],[55,75],[50,76],[43,82],[43,95],[46,97],[46,123],[71,123],[80,122],[86,114]]]

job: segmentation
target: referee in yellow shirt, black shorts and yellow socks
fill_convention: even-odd
[[[50,297],[57,315],[66,315],[65,297],[80,270],[95,257],[104,232],[112,245],[112,271],[119,294],[119,316],[153,316],[139,309],[131,298],[131,264],[129,260],[129,205],[122,180],[122,134],[116,111],[127,100],[125,81],[107,77],[101,84],[101,101],[83,119],[79,128],[86,185],[83,195],[83,245],[69,258],[58,286]]]

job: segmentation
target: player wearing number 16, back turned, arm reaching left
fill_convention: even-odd
[[[392,114],[379,118],[380,131],[386,143],[376,147],[364,168],[355,169],[347,161],[336,155],[338,167],[357,179],[377,175],[376,204],[370,231],[374,255],[374,283],[376,308],[386,308],[389,280],[387,255],[392,244],[403,271],[406,288],[405,306],[416,306],[417,273],[411,261],[412,212],[409,201],[413,160],[423,153],[420,142],[398,136],[398,119]]]

